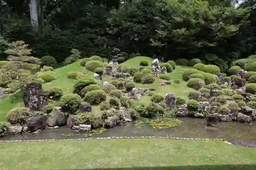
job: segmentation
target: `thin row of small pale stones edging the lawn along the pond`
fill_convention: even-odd
[[[182,138],[182,137],[155,137],[155,136],[135,136],[135,137],[94,137],[94,138],[72,138],[72,139],[39,139],[39,140],[0,140],[0,142],[39,142],[39,141],[64,141],[64,140],[95,140],[95,139],[137,139],[137,138],[160,138],[160,139],[176,139],[176,140],[220,140],[225,139],[208,139],[208,138]]]

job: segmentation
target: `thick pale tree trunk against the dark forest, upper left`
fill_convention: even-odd
[[[32,29],[38,31],[38,16],[37,16],[37,0],[30,0],[29,3],[30,20]]]

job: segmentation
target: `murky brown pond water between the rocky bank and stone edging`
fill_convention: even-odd
[[[185,138],[222,138],[227,141],[256,141],[256,124],[241,124],[238,122],[220,123],[220,128],[206,128],[206,119],[179,118],[182,125],[170,129],[153,129],[148,124],[135,126],[135,123],[108,129],[100,134],[73,133],[68,127],[46,129],[38,135],[24,134],[1,138],[2,140],[38,140],[67,139],[87,137],[121,137],[121,136],[172,136]]]

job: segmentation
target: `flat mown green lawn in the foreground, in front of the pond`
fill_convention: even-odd
[[[223,141],[102,139],[0,144],[1,170],[250,169],[256,149]]]

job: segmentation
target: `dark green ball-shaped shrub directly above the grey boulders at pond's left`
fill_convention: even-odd
[[[82,99],[80,95],[73,93],[66,94],[62,95],[60,98],[60,107],[63,111],[75,113],[79,109],[81,102]]]

